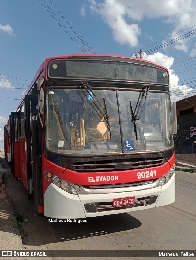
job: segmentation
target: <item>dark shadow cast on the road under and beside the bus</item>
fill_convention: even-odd
[[[3,159],[2,164],[7,169],[5,184],[14,210],[28,220],[23,222],[27,234],[22,239],[25,245],[40,246],[87,237],[107,236],[116,232],[128,232],[141,226],[138,219],[127,213],[87,218],[87,222],[82,223],[51,223],[43,215],[34,216],[33,201],[27,200],[25,186],[21,181],[12,178],[10,167]]]

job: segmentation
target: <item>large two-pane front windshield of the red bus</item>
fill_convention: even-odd
[[[106,118],[95,105],[93,95],[85,89],[54,87],[47,91],[46,147],[49,150],[72,155],[101,155],[122,153],[122,147],[125,152],[134,153],[161,151],[172,146],[168,94],[148,93],[140,118],[135,121],[136,138],[130,101],[135,110],[140,92],[119,90],[117,93],[115,90],[93,88],[93,93],[104,108],[107,106],[109,128]],[[126,149],[130,143],[134,143],[134,148]]]

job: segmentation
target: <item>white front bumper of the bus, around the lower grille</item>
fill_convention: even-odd
[[[111,202],[115,198],[135,196],[135,199],[158,195],[156,202],[151,205],[136,206],[132,208],[107,210],[101,212],[88,213],[84,207],[85,203]],[[51,218],[85,218],[110,214],[131,212],[142,209],[149,209],[171,204],[175,201],[175,173],[171,179],[163,186],[122,193],[108,194],[70,194],[55,184],[50,184],[44,194],[44,215]]]

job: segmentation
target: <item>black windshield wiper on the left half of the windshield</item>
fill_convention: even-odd
[[[106,107],[106,103],[105,103],[105,98],[104,98],[104,107],[101,105],[99,99],[96,97],[95,93],[92,91],[89,82],[81,82],[81,84],[85,90],[88,92],[88,94],[91,96],[95,106],[97,107],[97,109],[99,110],[99,112],[101,113],[102,118],[104,117],[105,121],[106,121],[106,125],[107,125],[107,130],[110,132],[110,139],[111,139],[111,130],[110,130],[110,123],[109,123],[109,116],[107,113],[107,107]],[[96,100],[95,100],[96,98]],[[98,103],[97,103],[97,102]]]

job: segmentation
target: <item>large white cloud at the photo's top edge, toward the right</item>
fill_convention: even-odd
[[[138,45],[141,28],[137,22],[144,19],[161,18],[163,22],[171,24],[170,35],[196,24],[194,0],[140,0],[138,3],[130,0],[102,0],[102,3],[88,1],[91,11],[102,17],[112,29],[114,39],[120,44]],[[193,29],[190,28],[189,31]],[[187,32],[182,32],[181,35]],[[168,40],[179,36],[180,34],[174,35]],[[187,52],[189,40],[190,37],[180,40],[175,44],[175,48]]]

